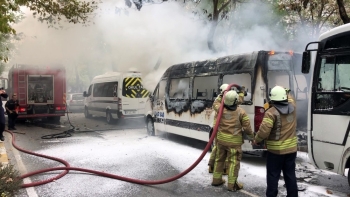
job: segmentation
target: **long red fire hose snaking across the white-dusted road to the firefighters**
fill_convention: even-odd
[[[232,86],[239,87],[236,84],[230,84],[227,87],[226,91],[230,90]],[[225,93],[223,95],[223,98],[225,97],[226,91],[225,91]],[[29,184],[22,184],[22,188],[34,187],[34,186],[43,185],[43,184],[46,184],[46,183],[49,183],[49,182],[53,182],[53,181],[55,181],[55,180],[57,180],[59,178],[62,178],[66,174],[68,174],[68,172],[70,170],[87,172],[87,173],[96,174],[96,175],[99,175],[99,176],[104,176],[104,177],[108,177],[108,178],[112,178],[112,179],[118,179],[118,180],[121,180],[121,181],[126,181],[126,182],[130,182],[130,183],[136,183],[136,184],[140,184],[140,185],[158,185],[158,184],[169,183],[169,182],[172,182],[174,180],[177,180],[177,179],[183,177],[184,175],[186,175],[187,173],[189,173],[191,170],[193,170],[193,168],[195,168],[198,165],[198,163],[203,159],[205,154],[208,152],[211,144],[213,143],[213,140],[214,140],[214,138],[216,136],[216,133],[217,133],[217,130],[218,130],[218,127],[219,127],[219,122],[221,120],[223,107],[224,107],[224,99],[221,100],[221,105],[220,105],[220,108],[219,108],[219,112],[217,114],[218,116],[217,116],[217,119],[216,119],[216,124],[215,124],[215,126],[213,128],[213,133],[212,133],[212,135],[211,135],[211,137],[209,139],[208,144],[206,145],[206,147],[204,148],[202,154],[198,157],[198,159],[188,169],[186,169],[182,173],[180,173],[180,174],[178,174],[176,176],[170,177],[168,179],[163,179],[163,180],[132,179],[132,178],[128,178],[128,177],[118,176],[118,175],[114,175],[114,174],[109,174],[109,173],[95,171],[95,170],[90,170],[90,169],[85,169],[85,168],[71,167],[69,165],[69,163],[64,161],[63,159],[56,158],[56,157],[51,157],[51,156],[47,156],[47,155],[43,155],[43,154],[34,153],[34,152],[25,150],[25,149],[17,146],[15,144],[15,135],[11,131],[6,130],[6,132],[8,132],[8,133],[10,133],[12,135],[12,145],[16,149],[18,149],[18,150],[20,150],[22,152],[25,152],[27,154],[35,155],[35,156],[46,158],[46,159],[55,160],[55,161],[58,161],[58,162],[60,162],[60,163],[65,165],[65,167],[47,168],[47,169],[42,169],[42,170],[30,172],[30,173],[27,173],[27,174],[24,174],[24,175],[20,176],[19,177],[20,179],[24,179],[24,178],[27,178],[27,177],[30,177],[30,176],[33,176],[33,175],[36,175],[36,174],[41,174],[41,173],[44,173],[44,172],[64,170],[62,173],[60,173],[59,175],[57,175],[57,176],[55,176],[53,178],[50,178],[50,179],[47,179],[47,180],[43,180],[43,181],[33,182],[33,183],[29,183]]]

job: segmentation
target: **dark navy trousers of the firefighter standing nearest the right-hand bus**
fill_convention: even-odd
[[[287,188],[287,197],[298,196],[297,179],[295,176],[295,158],[297,153],[285,155],[277,155],[267,152],[266,160],[266,181],[267,197],[276,197],[278,194],[278,180],[280,179],[281,171],[283,172],[284,182]]]

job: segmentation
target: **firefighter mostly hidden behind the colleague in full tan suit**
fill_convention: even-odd
[[[224,83],[220,86],[220,94],[219,96],[216,98],[218,99],[219,102],[221,102],[221,98],[222,98],[222,94],[224,93],[224,91],[227,89],[228,87],[228,84]],[[245,92],[245,87],[244,86],[239,86],[237,87],[237,90],[238,90],[238,95],[239,95],[239,99],[238,99],[238,102],[237,104],[240,105],[243,103],[244,101],[244,96],[246,95],[246,92]],[[215,127],[215,123],[216,123],[216,118],[218,116],[218,113],[215,112],[215,115],[214,115],[214,123],[213,123],[213,128]],[[216,152],[216,144],[215,144],[215,141],[214,140],[214,146],[213,146],[213,149],[211,150],[211,154],[210,154],[210,158],[209,158],[209,162],[208,162],[208,166],[209,166],[209,173],[213,173],[213,170],[214,170],[214,163],[215,163],[215,152]],[[225,166],[224,166],[224,175],[227,175],[228,174],[228,168],[227,168],[227,159],[225,161]]]

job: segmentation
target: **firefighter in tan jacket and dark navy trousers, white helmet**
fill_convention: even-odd
[[[298,196],[295,176],[297,155],[296,104],[288,89],[275,86],[270,92],[270,108],[265,112],[254,145],[266,139],[266,196],[277,196],[281,171],[287,196]],[[288,94],[288,95],[287,95]]]

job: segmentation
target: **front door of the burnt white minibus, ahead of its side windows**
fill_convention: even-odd
[[[154,130],[165,131],[166,109],[165,109],[165,87],[166,80],[159,82],[153,93],[152,109],[154,114]]]

